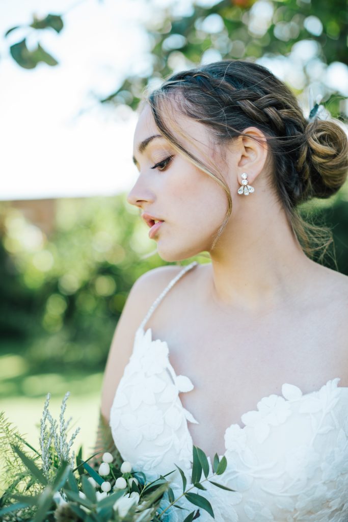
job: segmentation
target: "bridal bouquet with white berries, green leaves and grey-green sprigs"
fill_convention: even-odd
[[[59,420],[49,411],[50,394],[47,394],[40,422],[39,447],[28,444],[0,413],[0,452],[5,461],[5,490],[0,497],[0,519],[25,522],[162,522],[170,520],[173,509],[183,509],[178,501],[185,499],[194,506],[184,522],[200,516],[200,509],[214,517],[209,501],[193,488],[206,490],[209,481],[216,487],[234,491],[211,480],[222,474],[226,458],[214,456],[209,476],[209,463],[205,453],[193,446],[191,487],[187,488],[185,473],[176,464],[182,478],[183,492],[177,499],[166,477],[175,471],[148,480],[145,473],[132,469],[121,455],[97,452],[84,460],[82,446],[77,455],[72,449],[79,428],[68,440],[71,418],[65,421],[66,393]],[[102,455],[101,455],[102,454]],[[91,459],[97,459],[97,468]],[[98,469],[98,471],[97,471]],[[202,474],[204,478],[202,478]]]

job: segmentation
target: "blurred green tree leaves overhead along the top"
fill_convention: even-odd
[[[194,2],[187,7],[187,14],[178,16],[174,2],[162,10],[149,5],[149,9],[156,9],[156,16],[150,16],[143,26],[149,36],[152,65],[141,77],[126,76],[117,90],[100,99],[101,103],[136,109],[145,89],[177,68],[198,65],[206,52],[213,51],[216,60],[268,60],[290,56],[295,44],[309,41],[314,44],[314,53],[307,60],[296,61],[297,77],[301,76],[305,85],[294,89],[299,92],[315,82],[330,112],[346,117],[344,105],[336,96],[342,94],[340,85],[328,87],[323,74],[333,62],[348,63],[345,0],[333,4],[324,0],[271,0],[267,6],[257,0],[222,0],[209,7]],[[10,28],[5,36],[18,27],[60,32],[63,20],[63,14],[34,18],[28,26]],[[11,55],[21,67],[33,68],[40,61],[56,64],[40,44],[29,53],[25,39],[11,47]]]

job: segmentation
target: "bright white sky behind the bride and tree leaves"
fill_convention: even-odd
[[[216,1],[196,3],[212,5]],[[106,96],[130,72],[141,74],[149,51],[144,22],[173,2],[1,0],[0,200],[113,195],[133,186],[137,170],[131,156],[137,115],[124,108],[120,121],[117,111],[101,106],[93,93]],[[259,4],[265,7],[265,0],[256,2],[254,10]],[[191,0],[175,0],[177,14],[190,9]],[[60,34],[18,29],[7,39],[3,37],[10,27],[30,23],[33,13],[45,16],[66,11]],[[269,20],[263,22],[266,27]],[[40,63],[34,69],[23,69],[14,62],[9,45],[28,33],[29,49],[40,41],[59,65]],[[303,65],[310,61],[315,95],[324,81],[329,88],[339,89],[342,97],[347,96],[348,68],[337,62],[326,68],[315,57],[316,50],[313,40],[304,40],[293,46],[289,57],[263,57],[258,63],[302,89],[306,82]],[[208,50],[202,62],[219,60],[218,54]],[[303,106],[306,96],[304,92],[300,97]],[[81,109],[88,110],[79,115]]]

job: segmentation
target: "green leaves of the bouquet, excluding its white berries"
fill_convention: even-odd
[[[49,415],[47,409],[48,401],[49,397],[47,396],[43,411],[43,419],[46,419]],[[65,403],[63,400],[63,413],[64,405]],[[7,432],[9,432],[8,429]],[[9,433],[10,436],[14,436],[13,432]],[[43,423],[41,422],[41,445],[41,438],[45,438],[46,436],[47,434],[44,433]],[[177,504],[182,497],[185,497],[189,503],[201,509],[205,509],[205,511],[214,517],[210,502],[204,496],[192,492],[191,490],[194,488],[206,490],[202,482],[209,481],[211,484],[226,491],[233,491],[222,484],[210,480],[216,474],[223,473],[227,464],[226,458],[222,457],[218,464],[217,471],[209,476],[210,467],[208,458],[205,453],[196,446],[193,446],[192,478],[197,480],[190,484],[188,489],[186,489],[187,480],[184,472],[181,468],[176,466],[183,479],[183,493],[178,497],[178,499],[175,499],[174,492],[171,488],[171,482],[165,478],[174,471],[166,473],[165,476],[160,475],[158,479],[148,482],[145,474],[142,472],[126,472],[122,474],[118,468],[116,468],[114,463],[111,462],[110,471],[107,476],[100,477],[99,474],[87,464],[87,461],[83,460],[82,448],[80,448],[76,458],[78,467],[81,468],[79,469],[78,477],[74,475],[77,468],[72,470],[70,466],[71,462],[68,459],[58,461],[53,458],[50,461],[50,471],[54,473],[53,476],[51,472],[48,473],[50,480],[47,480],[47,473],[44,473],[43,468],[41,469],[38,466],[37,455],[29,457],[14,444],[11,445],[11,452],[12,455],[10,456],[19,458],[22,465],[27,469],[28,474],[31,476],[30,483],[37,484],[39,490],[28,492],[29,488],[27,487],[26,491],[23,492],[26,494],[19,493],[16,489],[13,490],[11,488],[6,491],[0,502],[0,517],[10,521],[18,520],[16,517],[20,514],[20,520],[32,520],[32,522],[53,522],[53,520],[56,520],[57,522],[64,522],[65,520],[70,520],[70,522],[73,520],[76,520],[76,522],[88,522],[92,520],[98,520],[98,522],[109,522],[110,520],[115,520],[117,522],[121,519],[124,520],[124,522],[134,522],[134,520],[137,520],[137,522],[160,522],[163,520],[163,515],[166,512],[168,512],[167,514],[169,515],[169,510],[173,507],[185,509],[183,506]],[[41,464],[44,464],[45,452],[46,448],[42,454]],[[205,478],[200,481],[202,470],[205,474]],[[126,490],[117,490],[117,488],[115,488],[116,478],[114,472],[117,474],[119,473],[118,476],[122,475],[126,480]],[[139,480],[137,485],[132,481],[131,485],[129,485],[129,479],[133,478],[136,474],[141,476],[143,480]],[[99,484],[102,484],[105,481],[110,482],[110,493],[104,493],[105,496],[101,498],[100,492],[97,492],[94,485],[92,485],[88,480],[88,475],[93,477]],[[115,490],[113,488],[115,488]],[[118,506],[122,503],[117,504],[116,507],[115,502],[122,501],[122,497],[124,497],[125,494],[128,495],[133,491],[138,495],[139,502],[137,500],[132,505],[128,505],[128,511],[121,514],[121,512],[118,511]],[[194,517],[195,511],[189,513],[185,520],[189,522],[193,520]]]

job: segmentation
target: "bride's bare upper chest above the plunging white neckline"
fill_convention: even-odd
[[[171,307],[167,302],[170,320],[163,307],[147,327],[154,339],[167,342],[175,373],[194,384],[181,400],[199,422],[189,426],[193,440],[211,456],[223,453],[226,427],[243,426],[243,414],[256,410],[263,397],[281,395],[284,383],[303,393],[335,377],[348,386],[348,311],[332,302],[251,319],[213,313],[198,301],[179,314],[183,301],[174,301]]]

